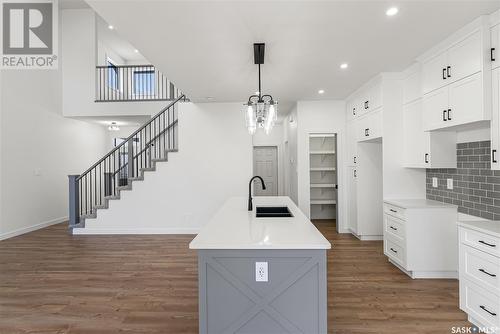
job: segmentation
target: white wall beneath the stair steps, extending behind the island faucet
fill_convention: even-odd
[[[239,103],[181,104],[179,152],[74,232],[196,233],[229,197],[246,198],[252,136],[239,110]]]

